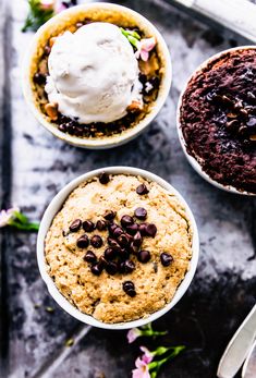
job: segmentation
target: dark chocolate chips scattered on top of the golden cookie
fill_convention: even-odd
[[[110,178],[106,172],[99,175],[99,182],[102,185],[108,184]],[[148,193],[148,188],[145,184],[141,184],[136,187],[136,193],[145,195]],[[89,246],[100,248],[103,245],[102,237],[99,234],[89,237],[88,234],[95,230],[108,232],[106,249],[100,257],[96,256],[93,248],[87,249],[84,255],[84,260],[90,264],[90,271],[95,276],[100,276],[103,270],[111,276],[131,273],[135,269],[131,255],[135,255],[142,264],[148,263],[151,258],[150,252],[142,248],[144,237],[155,237],[157,234],[156,224],[146,222],[147,210],[138,207],[132,216],[124,215],[120,223],[114,221],[115,216],[115,211],[109,210],[97,222],[75,219],[70,224],[70,232],[77,232],[82,228],[86,232],[76,240],[78,248]],[[164,267],[169,266],[172,260],[172,256],[168,253],[160,255],[160,261]],[[131,281],[123,282],[123,290],[130,296],[136,295],[134,283]]]

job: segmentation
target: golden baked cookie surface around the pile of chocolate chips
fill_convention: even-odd
[[[142,183],[146,184],[148,194],[136,193]],[[108,247],[108,230],[86,233],[89,239],[94,234],[102,237],[100,248],[92,245],[78,248],[76,240],[85,231],[81,229],[71,233],[70,224],[75,219],[96,223],[110,210],[117,211],[114,221],[120,223],[122,216],[133,216],[138,207],[147,210],[146,222],[157,227],[156,236],[143,237],[141,247],[150,252],[150,260],[142,264],[131,255],[130,259],[135,264],[131,273],[110,276],[103,270],[100,276],[93,275],[90,265],[83,257],[88,249],[97,257],[103,255]],[[168,267],[160,261],[163,252],[173,257]],[[109,324],[130,321],[148,317],[172,300],[190,268],[192,229],[180,200],[156,182],[117,174],[110,176],[108,184],[100,184],[95,178],[75,188],[54,217],[46,237],[45,255],[48,273],[57,288],[82,313]],[[125,281],[134,283],[134,297],[123,291]]]

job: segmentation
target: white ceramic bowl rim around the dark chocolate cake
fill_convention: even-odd
[[[186,90],[187,84],[188,82],[192,80],[193,76],[195,76],[202,69],[204,69],[205,66],[207,66],[212,60],[220,58],[222,54],[225,54],[229,51],[236,51],[236,50],[243,50],[243,49],[256,49],[255,46],[239,46],[239,47],[234,47],[232,49],[228,49],[228,50],[223,50],[219,53],[216,53],[215,56],[210,57],[209,59],[205,60],[194,72],[193,74],[188,77],[188,80],[186,81],[186,84],[183,88],[183,90],[181,92],[179,101],[178,101],[178,108],[176,108],[176,129],[178,129],[178,134],[179,134],[179,138],[180,138],[180,143],[182,146],[182,149],[186,156],[186,159],[188,160],[188,162],[191,163],[191,166],[194,168],[194,170],[203,178],[205,179],[208,183],[210,183],[211,185],[225,191],[225,192],[230,192],[230,193],[235,193],[235,194],[242,194],[242,195],[248,195],[248,196],[255,196],[254,193],[248,193],[248,192],[243,192],[243,191],[239,191],[236,190],[234,186],[230,186],[230,185],[223,185],[220,184],[219,182],[212,180],[203,169],[202,166],[198,163],[198,161],[191,156],[187,151],[186,151],[186,143],[182,133],[182,129],[181,129],[181,123],[180,123],[180,117],[181,117],[181,106],[182,106],[182,98],[183,95]]]

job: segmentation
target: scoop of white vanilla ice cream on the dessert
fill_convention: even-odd
[[[142,100],[138,62],[120,28],[90,23],[57,38],[46,92],[59,111],[80,123],[112,122]]]

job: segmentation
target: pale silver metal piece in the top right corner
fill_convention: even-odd
[[[256,42],[256,4],[248,0],[174,0]]]

